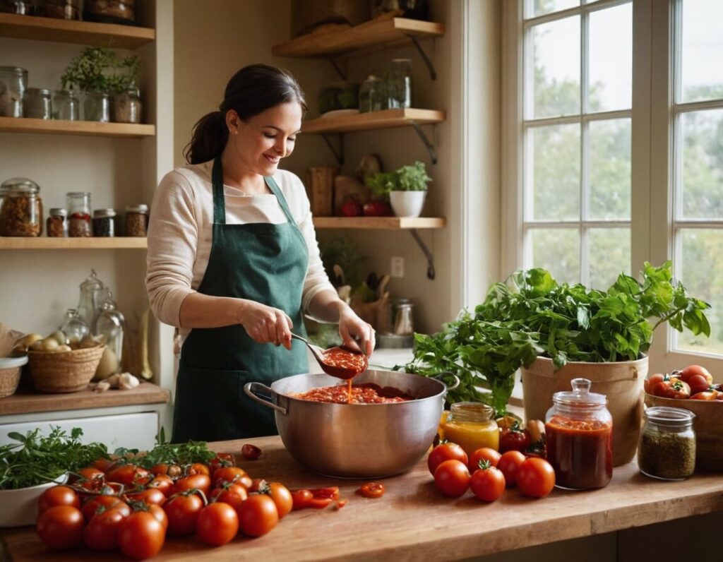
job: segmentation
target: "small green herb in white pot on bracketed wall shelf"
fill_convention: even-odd
[[[424,163],[415,162],[392,172],[372,174],[366,183],[377,195],[388,198],[396,216],[415,217],[422,213],[427,184],[431,181]]]

